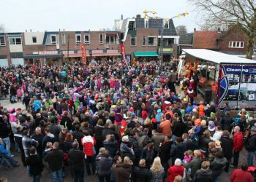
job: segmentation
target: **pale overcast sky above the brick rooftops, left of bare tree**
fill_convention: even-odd
[[[114,20],[143,15],[143,9],[155,9],[159,17],[173,17],[174,25],[197,26],[197,15],[187,0],[1,0],[0,24],[6,31],[87,31],[113,28]]]

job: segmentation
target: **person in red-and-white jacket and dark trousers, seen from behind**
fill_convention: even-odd
[[[91,175],[91,170],[93,175],[95,174],[96,170],[96,162],[95,162],[95,155],[96,151],[94,149],[94,146],[96,145],[96,140],[94,137],[91,137],[89,134],[89,131],[83,130],[84,137],[82,138],[82,144],[83,144],[83,153],[85,155],[86,159],[86,170],[87,174]],[[91,164],[91,168],[90,168]]]

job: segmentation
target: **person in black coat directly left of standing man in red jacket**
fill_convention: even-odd
[[[220,138],[219,141],[221,141],[222,153],[227,159],[225,171],[228,173],[230,162],[233,157],[233,140],[230,138],[230,132],[224,130],[222,132],[222,138]]]

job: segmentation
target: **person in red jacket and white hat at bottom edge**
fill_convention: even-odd
[[[176,159],[174,165],[168,169],[167,182],[173,182],[177,175],[184,175],[184,166],[181,165],[181,159]]]

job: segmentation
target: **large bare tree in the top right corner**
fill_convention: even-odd
[[[228,25],[238,28],[247,39],[246,58],[252,59],[256,43],[255,0],[188,0],[201,15],[203,29]]]

